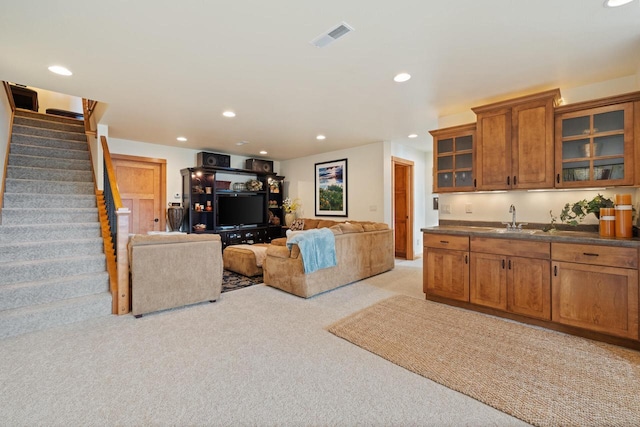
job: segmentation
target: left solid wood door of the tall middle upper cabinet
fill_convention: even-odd
[[[511,109],[478,115],[476,179],[479,190],[511,188]]]

